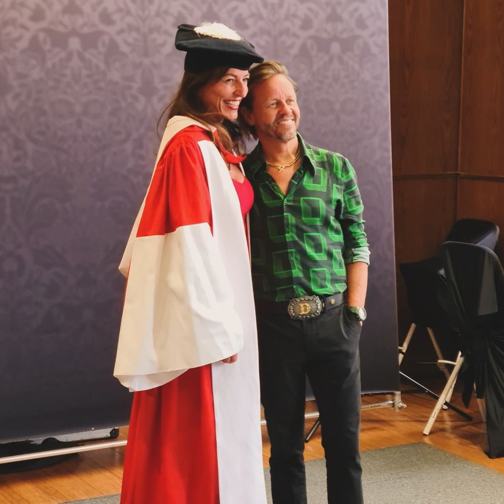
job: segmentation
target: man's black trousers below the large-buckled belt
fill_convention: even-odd
[[[314,319],[257,312],[261,400],[274,504],[306,504],[305,376],[317,400],[329,504],[362,504],[360,325],[346,304]]]

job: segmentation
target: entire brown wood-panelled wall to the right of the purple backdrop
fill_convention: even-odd
[[[504,236],[504,0],[389,0],[389,24],[397,262],[432,256],[457,219]],[[397,296],[402,341],[400,273]],[[426,334],[413,340],[403,368],[428,373]]]

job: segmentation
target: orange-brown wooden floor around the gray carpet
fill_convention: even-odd
[[[454,402],[460,403],[460,394]],[[385,401],[386,396],[363,398],[363,403]],[[389,398],[390,399],[390,398]],[[476,401],[468,422],[452,411],[442,411],[429,436],[422,430],[434,401],[423,394],[403,394],[407,407],[400,411],[370,409],[362,412],[361,450],[373,450],[408,443],[427,443],[504,474],[504,458],[490,460],[483,453],[486,446],[484,424]],[[308,404],[308,409],[313,405]],[[306,422],[307,430],[314,420]],[[127,436],[121,429],[119,438]],[[267,466],[269,442],[263,428],[264,463]],[[0,475],[0,504],[60,504],[100,495],[119,493],[124,448],[84,452],[46,469]],[[324,456],[320,431],[306,445],[306,460]],[[407,461],[405,461],[405,464]]]

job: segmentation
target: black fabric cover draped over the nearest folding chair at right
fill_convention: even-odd
[[[504,456],[504,272],[487,247],[448,241],[443,244],[451,324],[461,336],[465,357],[462,395],[469,406],[486,397],[490,458]]]

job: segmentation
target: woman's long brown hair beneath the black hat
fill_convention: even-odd
[[[227,68],[217,68],[203,74],[185,72],[173,98],[159,117],[158,134],[160,124],[164,124],[166,128],[166,124],[174,115],[185,115],[208,128],[210,126],[216,128],[224,148],[228,151],[233,150],[237,140],[242,136],[239,126],[228,119],[222,120],[223,115],[220,112],[209,112],[200,97],[203,86],[218,82],[227,71]]]

